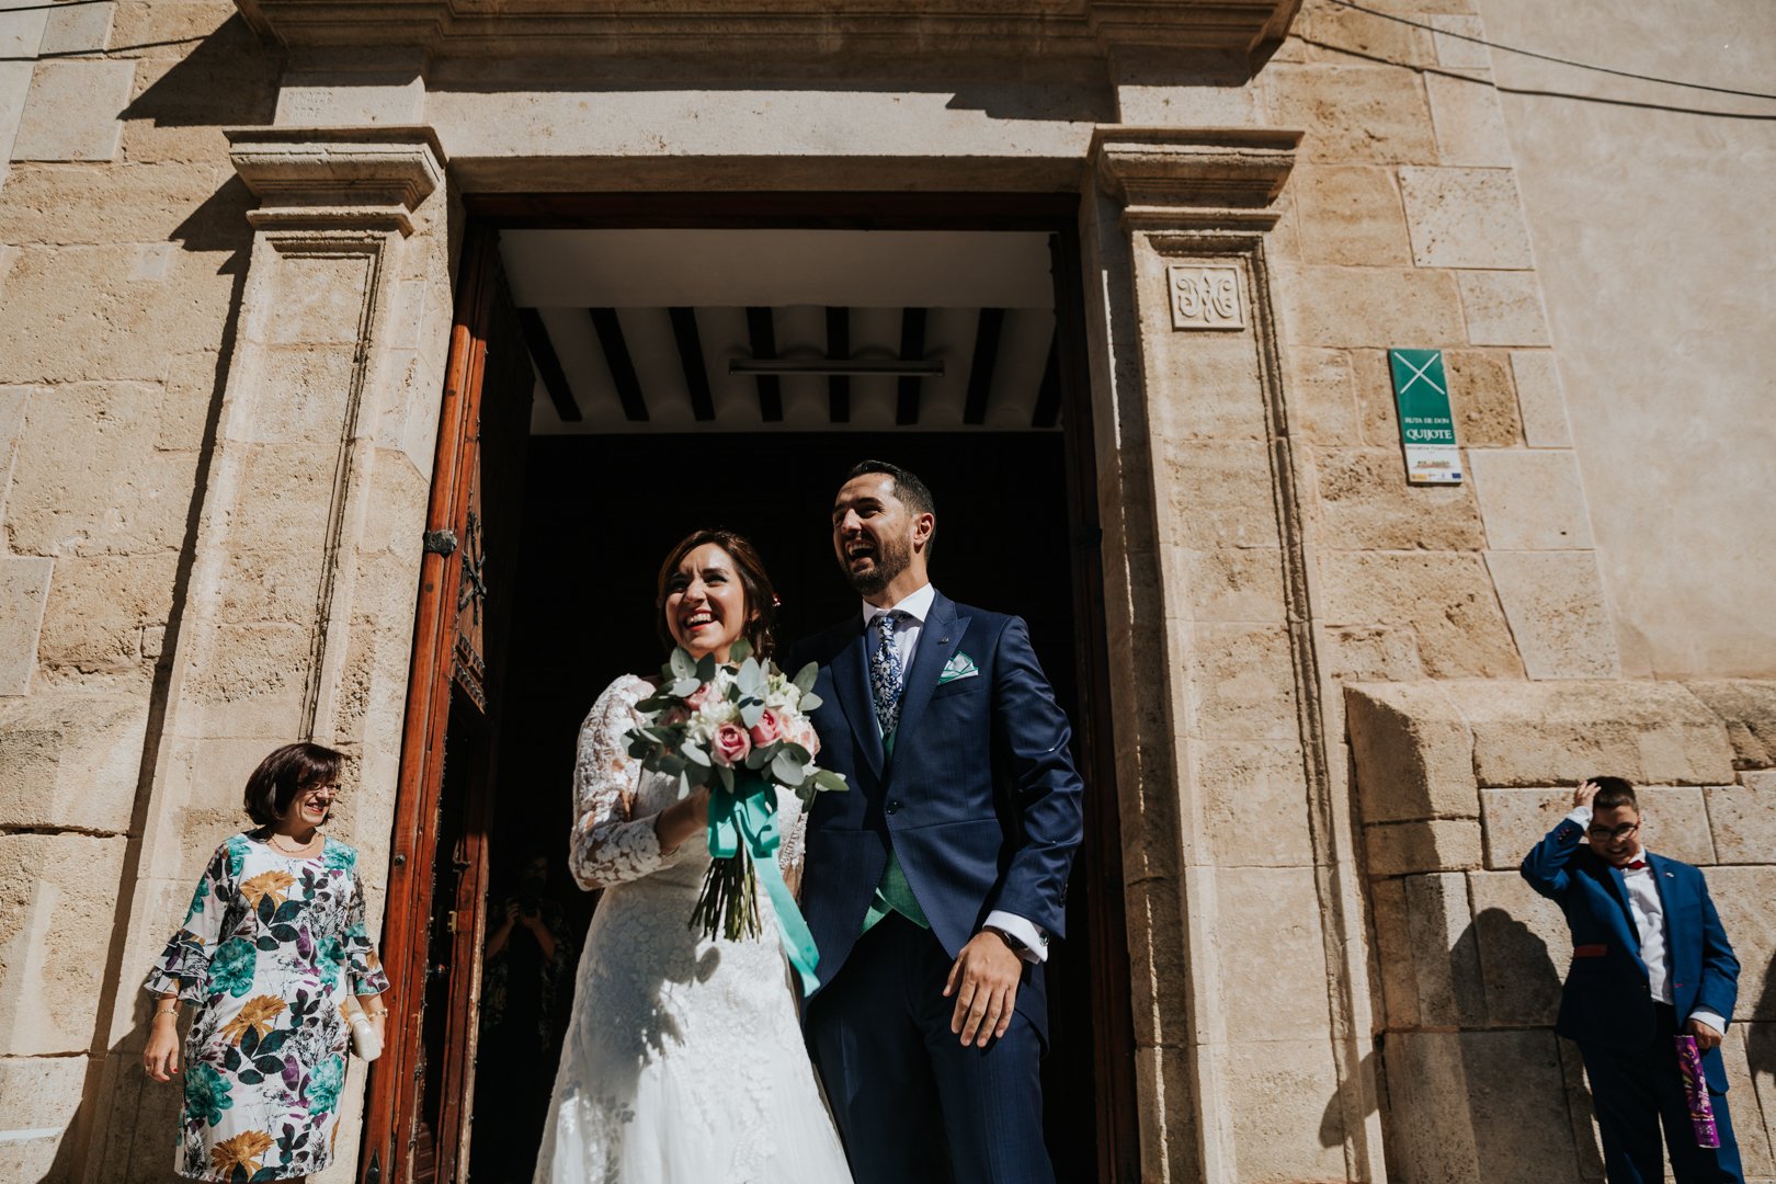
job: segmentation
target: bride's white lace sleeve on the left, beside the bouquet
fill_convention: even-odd
[[[641,762],[629,754],[623,733],[636,726],[636,703],[648,685],[632,675],[599,696],[579,730],[574,762],[574,838],[568,866],[581,888],[609,888],[668,868],[654,818],[630,817],[641,786]]]

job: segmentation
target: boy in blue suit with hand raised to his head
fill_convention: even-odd
[[[1554,1031],[1579,1044],[1611,1184],[1659,1184],[1659,1124],[1680,1184],[1744,1180],[1726,1113],[1721,1035],[1739,959],[1701,872],[1641,849],[1641,811],[1621,777],[1593,777],[1572,813],[1524,857],[1522,873],[1572,928],[1572,969]],[[1579,838],[1590,838],[1581,847]],[[1696,1147],[1673,1037],[1696,1037],[1719,1127]]]

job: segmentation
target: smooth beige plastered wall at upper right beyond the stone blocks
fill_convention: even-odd
[[[1478,7],[1504,44],[1771,91],[1764,0]],[[1746,589],[1776,579],[1776,515],[1748,509],[1776,472],[1735,458],[1776,449],[1776,220],[1744,188],[1776,101],[1492,57],[1623,671],[1767,678],[1776,630]]]

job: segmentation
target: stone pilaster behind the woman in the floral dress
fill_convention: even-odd
[[[261,204],[249,213],[242,328],[186,611],[169,637],[153,790],[123,877],[87,1179],[169,1166],[178,1090],[142,1088],[140,980],[210,852],[243,829],[242,786],[272,747],[314,738],[348,754],[330,831],[362,852],[380,928],[451,325],[444,158],[430,128],[408,126],[234,130],[229,140]],[[357,1117],[345,1109],[350,1177]]]

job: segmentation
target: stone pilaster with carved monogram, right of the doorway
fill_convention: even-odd
[[[1384,1179],[1360,896],[1327,767],[1270,298],[1298,140],[1103,126],[1092,142],[1147,1179]]]

